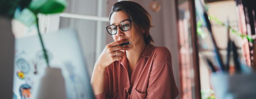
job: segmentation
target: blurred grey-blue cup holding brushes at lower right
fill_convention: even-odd
[[[240,73],[230,76],[226,73],[213,73],[211,85],[218,99],[255,99],[256,74]]]

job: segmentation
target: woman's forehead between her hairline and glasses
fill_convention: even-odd
[[[118,25],[122,21],[130,19],[129,16],[124,12],[124,11],[118,11],[118,12],[113,12],[113,14],[110,17],[110,24],[111,25]]]

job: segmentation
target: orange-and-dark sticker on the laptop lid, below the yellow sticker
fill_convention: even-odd
[[[32,88],[28,85],[21,85],[20,95],[21,99],[30,99],[32,97]]]

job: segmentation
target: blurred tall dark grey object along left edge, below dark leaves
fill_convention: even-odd
[[[14,35],[10,19],[0,16],[0,96],[12,99]]]

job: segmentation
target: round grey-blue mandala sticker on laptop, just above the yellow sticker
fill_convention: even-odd
[[[20,69],[24,74],[27,74],[30,71],[30,65],[24,58],[17,59],[15,63],[18,69]]]

